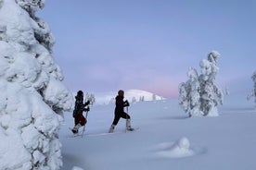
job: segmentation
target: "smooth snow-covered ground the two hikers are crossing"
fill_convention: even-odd
[[[246,97],[227,96],[220,116],[192,117],[177,99],[132,103],[137,131],[107,133],[114,104],[91,108],[83,138],[72,137],[70,113],[60,130],[63,170],[254,170],[256,110]],[[81,129],[82,130],[82,129]]]

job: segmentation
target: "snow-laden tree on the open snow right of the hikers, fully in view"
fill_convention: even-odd
[[[218,115],[217,105],[223,103],[223,92],[214,84],[219,68],[216,66],[220,54],[212,51],[199,66],[201,74],[194,68],[188,71],[188,80],[179,86],[179,104],[190,116]]]

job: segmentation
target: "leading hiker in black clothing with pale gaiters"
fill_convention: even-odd
[[[124,91],[118,91],[118,95],[116,96],[116,107],[115,107],[115,117],[111,127],[109,128],[109,133],[113,133],[115,126],[118,124],[120,118],[126,119],[126,129],[133,130],[134,128],[131,127],[131,117],[127,113],[123,111],[124,107],[128,107],[130,104],[126,100],[123,102],[124,98]]]

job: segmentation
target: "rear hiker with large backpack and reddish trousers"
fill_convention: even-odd
[[[83,103],[83,91],[77,91],[77,95],[75,96],[75,106],[73,110],[74,117],[74,128],[72,128],[72,132],[74,134],[78,133],[78,129],[85,126],[87,120],[83,116],[84,112],[89,112],[90,108],[86,107],[90,104],[90,101]]]

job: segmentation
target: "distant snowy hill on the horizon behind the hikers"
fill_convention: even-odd
[[[109,104],[114,103],[117,91],[99,92],[95,93],[96,104]],[[148,91],[142,90],[127,90],[124,91],[124,100],[128,100],[130,103],[139,101],[154,101],[163,100],[164,98]]]

